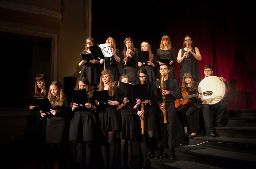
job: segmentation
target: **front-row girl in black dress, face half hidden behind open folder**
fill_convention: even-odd
[[[129,83],[128,76],[122,75],[119,78],[120,82]],[[136,125],[135,125],[135,118],[133,116],[132,110],[137,109],[139,106],[136,104],[132,107],[131,103],[125,98],[120,98],[123,103],[121,103],[116,110],[118,110],[117,114],[119,116],[119,130],[117,132],[117,138],[121,139],[121,168],[125,167],[125,144],[128,142],[128,148],[127,148],[127,166],[128,168],[132,168],[131,165],[131,156],[132,156],[132,140],[134,141],[138,137]]]

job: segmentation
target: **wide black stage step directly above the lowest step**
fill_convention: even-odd
[[[175,148],[178,159],[225,168],[255,168],[256,155],[198,146]]]

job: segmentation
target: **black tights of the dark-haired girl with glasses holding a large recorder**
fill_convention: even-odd
[[[150,139],[151,144],[154,147],[154,151],[155,151],[155,157],[158,157],[158,149],[157,149],[157,140],[156,137],[154,136],[154,131],[148,131],[148,137]],[[143,156],[143,167],[146,167],[148,164],[148,160],[147,160],[147,139],[146,139],[146,135],[141,134],[141,139],[140,139],[140,148],[141,148],[141,153]]]

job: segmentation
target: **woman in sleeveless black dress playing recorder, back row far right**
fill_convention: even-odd
[[[188,46],[188,48],[186,47]],[[177,62],[180,63],[180,82],[182,81],[182,77],[185,73],[189,73],[192,75],[195,84],[197,81],[201,80],[201,75],[199,71],[199,67],[197,64],[197,60],[202,60],[202,56],[197,47],[194,46],[194,42],[192,41],[191,36],[185,36],[183,39],[182,49],[180,49]]]

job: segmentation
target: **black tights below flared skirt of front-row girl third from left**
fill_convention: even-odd
[[[83,157],[84,157],[84,148],[86,151],[86,166],[85,168],[90,167],[90,160],[91,160],[91,152],[92,152],[92,143],[91,142],[83,142],[83,143],[77,143],[77,160],[80,165],[80,168],[84,168],[83,166]]]

